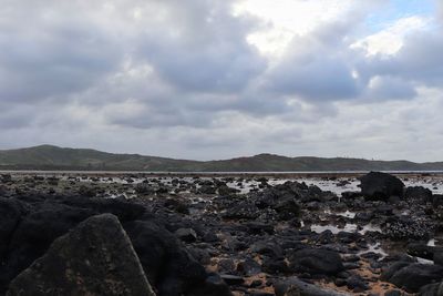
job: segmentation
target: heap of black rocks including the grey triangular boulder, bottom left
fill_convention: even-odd
[[[0,293],[230,295],[137,203],[14,196],[0,215]]]

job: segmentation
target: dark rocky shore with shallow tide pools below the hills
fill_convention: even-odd
[[[443,196],[394,176],[122,178],[2,175],[0,295],[443,295]]]

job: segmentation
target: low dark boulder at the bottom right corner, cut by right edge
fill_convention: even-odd
[[[416,293],[421,287],[441,282],[443,266],[419,263],[395,263],[382,274],[382,279],[404,288],[409,293]]]

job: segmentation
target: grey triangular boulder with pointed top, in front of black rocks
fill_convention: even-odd
[[[155,294],[119,220],[104,214],[55,239],[12,280],[7,295]]]

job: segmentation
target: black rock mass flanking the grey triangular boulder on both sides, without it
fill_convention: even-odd
[[[205,293],[203,295],[213,295],[212,289],[217,295],[230,295],[226,284],[215,275],[210,277],[164,227],[162,215],[145,213],[145,207],[137,203],[68,195],[20,195],[0,198],[0,213],[4,217],[0,218],[0,295],[17,275],[43,256],[58,237],[103,213],[115,215],[124,224],[158,296],[198,295],[194,293],[196,288]]]

